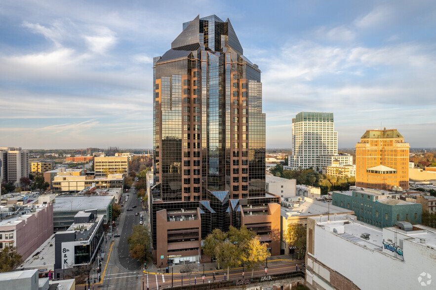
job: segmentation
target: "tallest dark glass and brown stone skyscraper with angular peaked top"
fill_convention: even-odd
[[[215,15],[184,23],[171,49],[154,58],[151,220],[158,265],[181,257],[196,262],[212,229],[247,223],[240,206],[275,213],[269,203],[279,197],[265,191],[260,74],[243,56],[230,20]],[[174,246],[183,225],[171,221],[186,221],[191,245]],[[174,247],[191,251],[167,259]]]

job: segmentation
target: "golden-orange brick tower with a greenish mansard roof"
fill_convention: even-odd
[[[408,189],[409,148],[396,129],[367,130],[356,144],[356,186]]]

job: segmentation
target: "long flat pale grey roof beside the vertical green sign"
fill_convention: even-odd
[[[56,197],[53,203],[54,212],[63,211],[84,211],[92,209],[106,209],[112,201],[113,196],[74,196]]]

